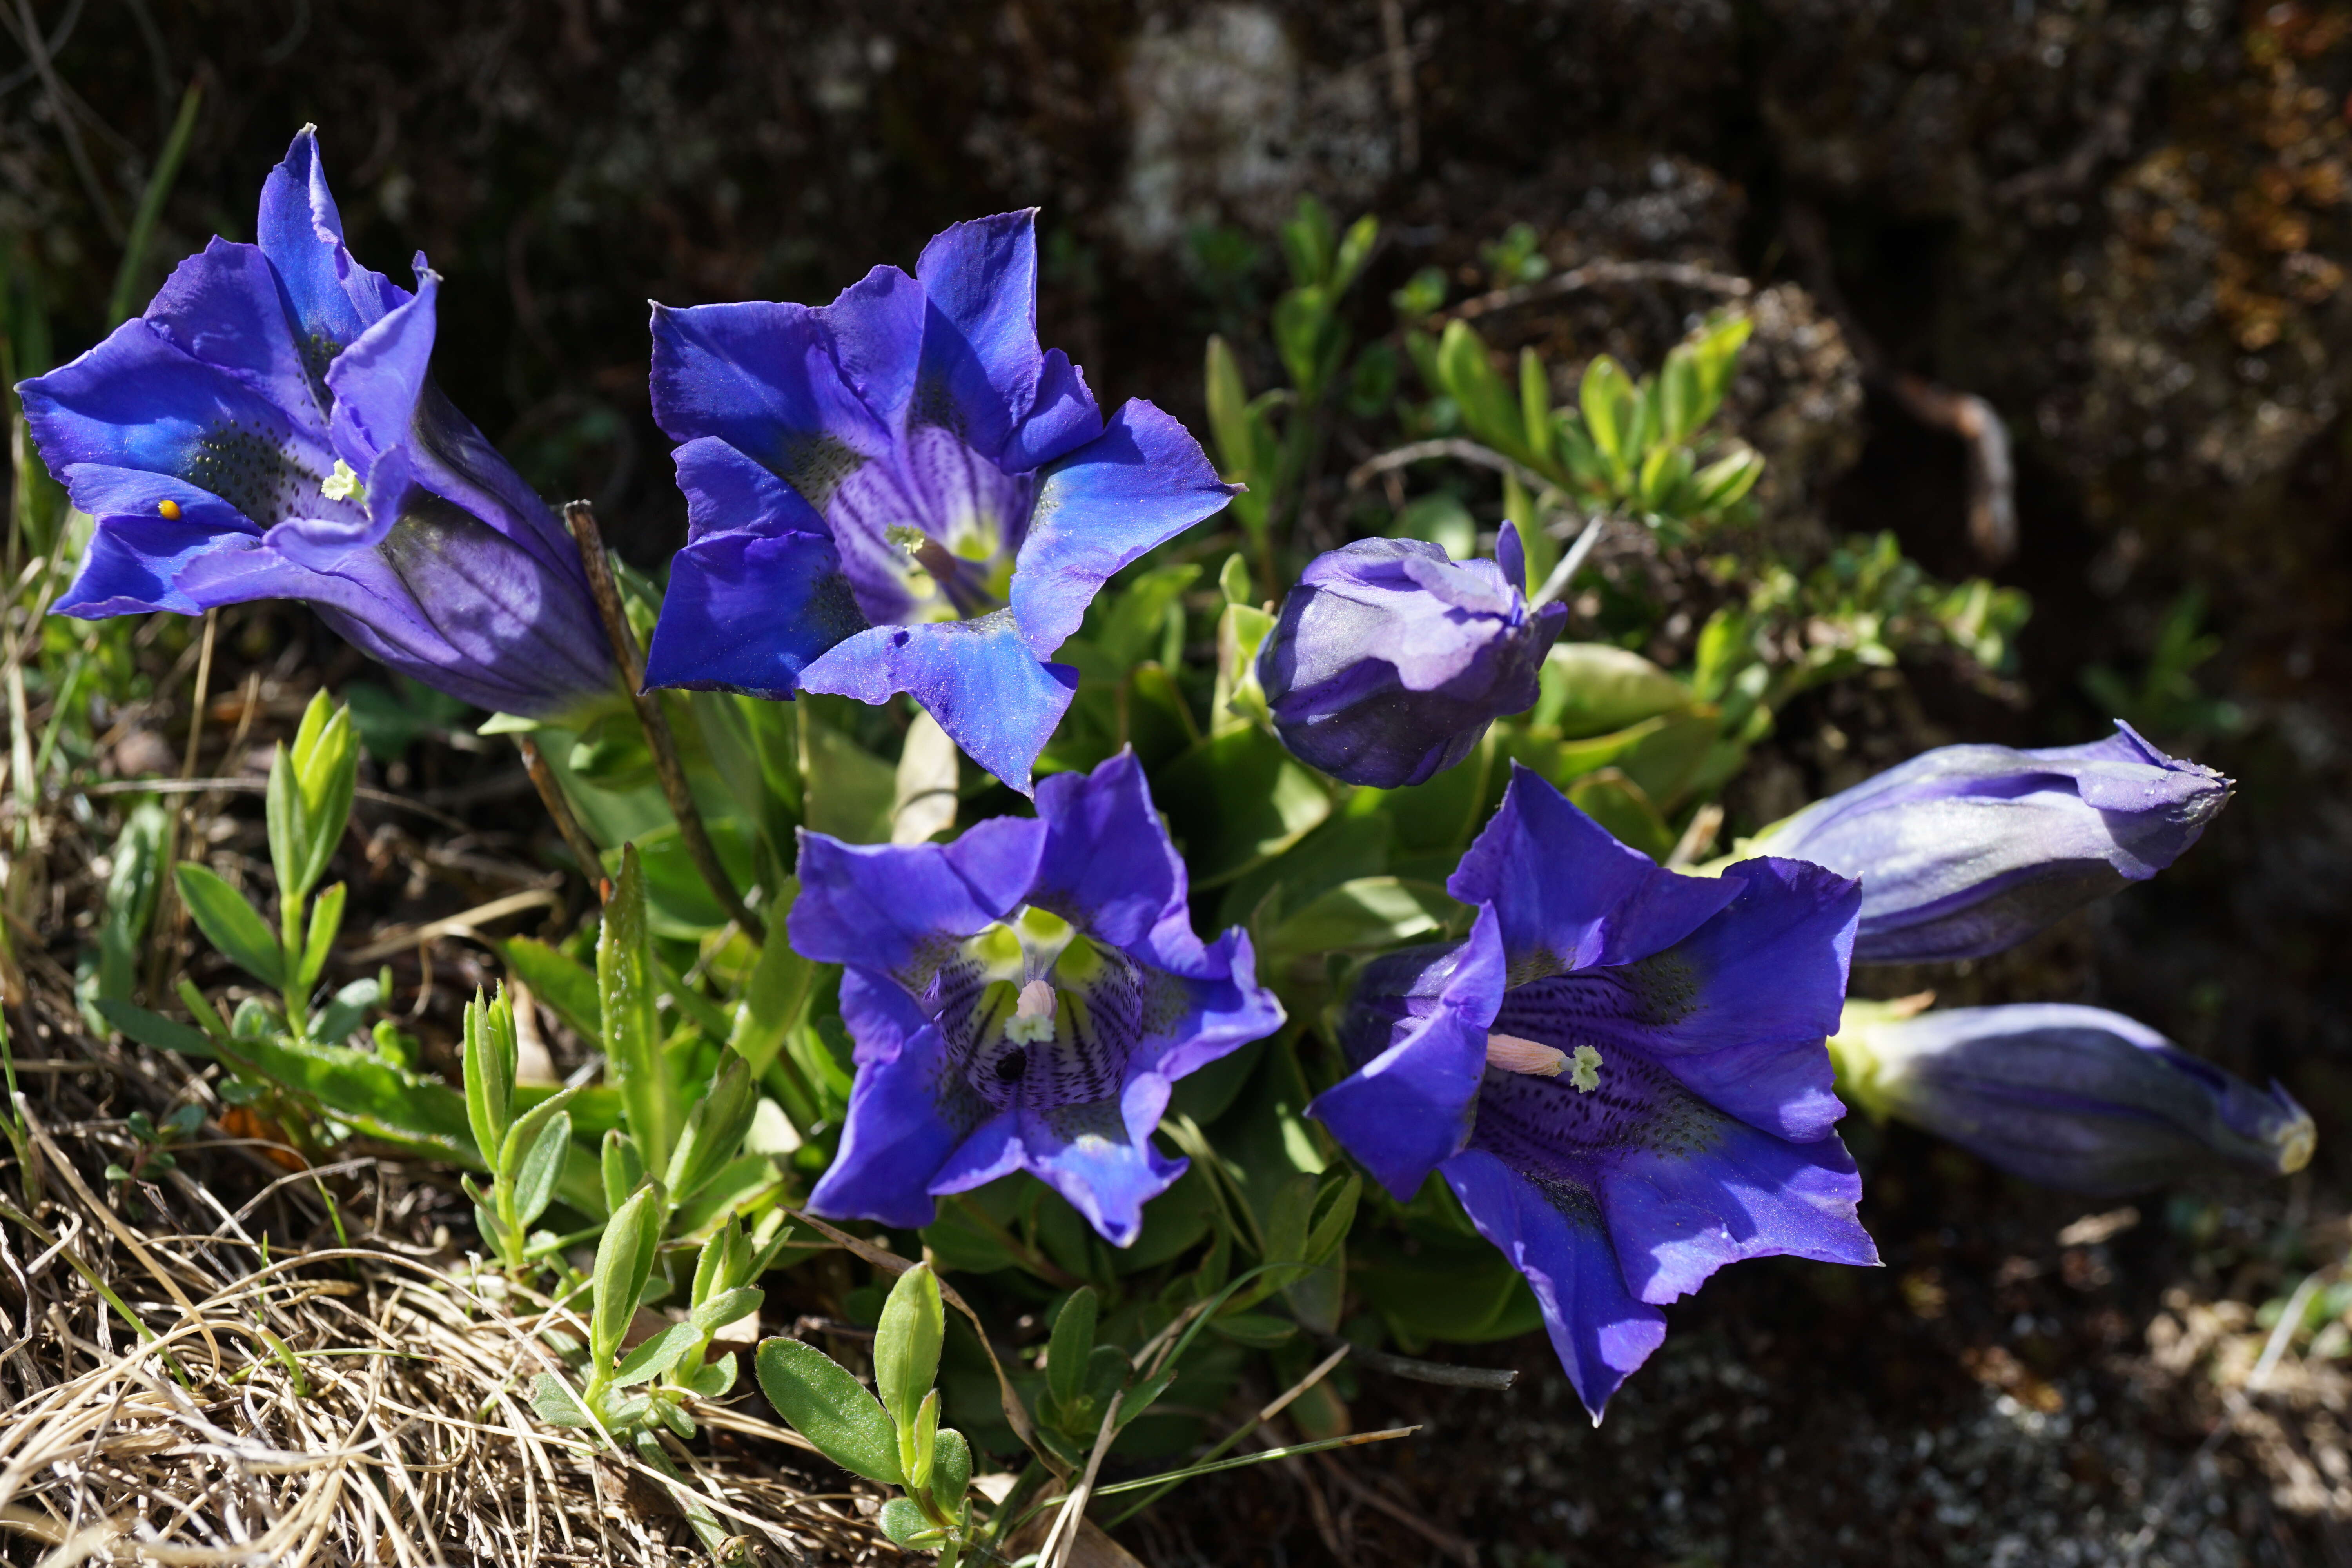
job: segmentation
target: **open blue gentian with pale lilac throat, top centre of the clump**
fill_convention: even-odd
[[[1035,212],[957,223],[830,306],[654,306],[654,418],[687,548],[647,684],[882,703],[908,691],[1028,790],[1103,581],[1225,505],[1148,402],[1105,425],[1037,348]]]

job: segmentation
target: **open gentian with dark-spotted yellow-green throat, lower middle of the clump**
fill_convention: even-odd
[[[953,844],[802,832],[800,879],[793,947],[844,966],[856,1039],[818,1213],[920,1227],[1025,1168],[1127,1246],[1185,1168],[1150,1143],[1169,1086],[1282,1023],[1247,933],[1192,936],[1134,752]]]

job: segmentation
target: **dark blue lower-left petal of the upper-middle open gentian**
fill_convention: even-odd
[[[670,559],[644,684],[781,701],[811,658],[861,630],[823,534],[706,534]]]

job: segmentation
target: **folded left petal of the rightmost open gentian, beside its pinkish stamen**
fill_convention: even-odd
[[[1449,954],[1437,1006],[1402,1016],[1390,1046],[1308,1105],[1359,1166],[1411,1201],[1470,1138],[1486,1074],[1486,1030],[1503,994],[1503,938],[1482,907],[1470,940]]]

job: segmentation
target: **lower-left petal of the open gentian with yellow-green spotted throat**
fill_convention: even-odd
[[[934,1173],[988,1105],[948,1067],[938,1030],[894,983],[842,971],[842,1023],[858,1041],[858,1077],[849,1088],[842,1147],[809,1194],[809,1208],[920,1229],[938,1211]]]

